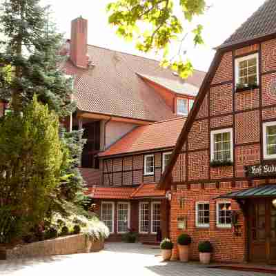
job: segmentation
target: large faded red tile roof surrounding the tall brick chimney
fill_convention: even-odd
[[[161,68],[159,61],[88,45],[92,66],[76,68],[66,61],[64,71],[75,75],[75,100],[84,112],[161,121],[175,117],[164,99],[137,75],[179,81],[172,71]],[[186,82],[199,87],[205,72],[195,70]]]

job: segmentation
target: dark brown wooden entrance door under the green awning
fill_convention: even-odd
[[[249,259],[276,263],[276,208],[271,199],[251,199],[249,203]]]

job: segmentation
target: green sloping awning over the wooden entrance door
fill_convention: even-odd
[[[219,198],[276,197],[276,184],[264,185],[221,195]]]

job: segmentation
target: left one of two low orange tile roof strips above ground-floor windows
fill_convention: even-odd
[[[95,199],[130,199],[135,190],[130,187],[93,187],[88,188],[86,194]]]

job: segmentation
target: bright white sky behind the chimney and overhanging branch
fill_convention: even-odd
[[[52,17],[57,23],[59,32],[70,38],[70,21],[79,16],[88,19],[88,43],[128,52],[133,55],[142,55],[157,58],[154,53],[146,55],[135,49],[135,43],[128,43],[117,37],[115,29],[108,25],[106,5],[115,0],[41,0],[43,5],[52,6]],[[179,0],[175,0],[177,3]],[[185,50],[189,59],[197,70],[207,71],[215,54],[214,47],[219,46],[230,34],[248,18],[264,0],[206,0],[210,8],[195,23],[204,26],[204,46],[195,48],[187,41]]]

